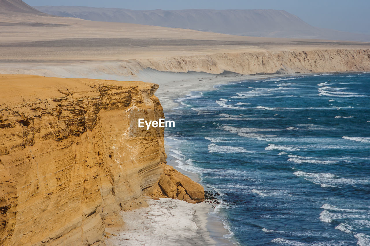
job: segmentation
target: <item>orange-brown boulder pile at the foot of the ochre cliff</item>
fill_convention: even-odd
[[[172,166],[162,163],[163,173],[158,184],[147,190],[147,194],[152,197],[173,198],[182,201],[196,203],[204,201],[204,188],[202,185]]]

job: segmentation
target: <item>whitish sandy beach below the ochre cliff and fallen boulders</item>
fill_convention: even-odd
[[[207,214],[211,205],[189,204],[169,198],[148,200],[148,208],[121,212],[125,225],[106,228],[112,234],[107,245],[232,245],[226,239],[221,243],[209,232]],[[217,226],[212,229],[217,229]],[[220,228],[219,228],[220,229]],[[117,235],[117,236],[114,236]]]

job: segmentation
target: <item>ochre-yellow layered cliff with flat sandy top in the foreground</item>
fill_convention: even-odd
[[[163,117],[156,84],[0,75],[0,88],[0,245],[105,245],[105,226],[175,172],[163,128],[129,134],[129,110]]]

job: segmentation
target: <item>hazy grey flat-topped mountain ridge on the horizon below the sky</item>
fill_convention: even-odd
[[[63,17],[176,27],[255,37],[370,41],[370,35],[317,28],[284,10],[128,10],[70,6],[36,9]]]

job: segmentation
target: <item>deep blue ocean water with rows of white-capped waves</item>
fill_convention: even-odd
[[[370,245],[370,73],[220,85],[166,112],[168,158],[239,245]]]

